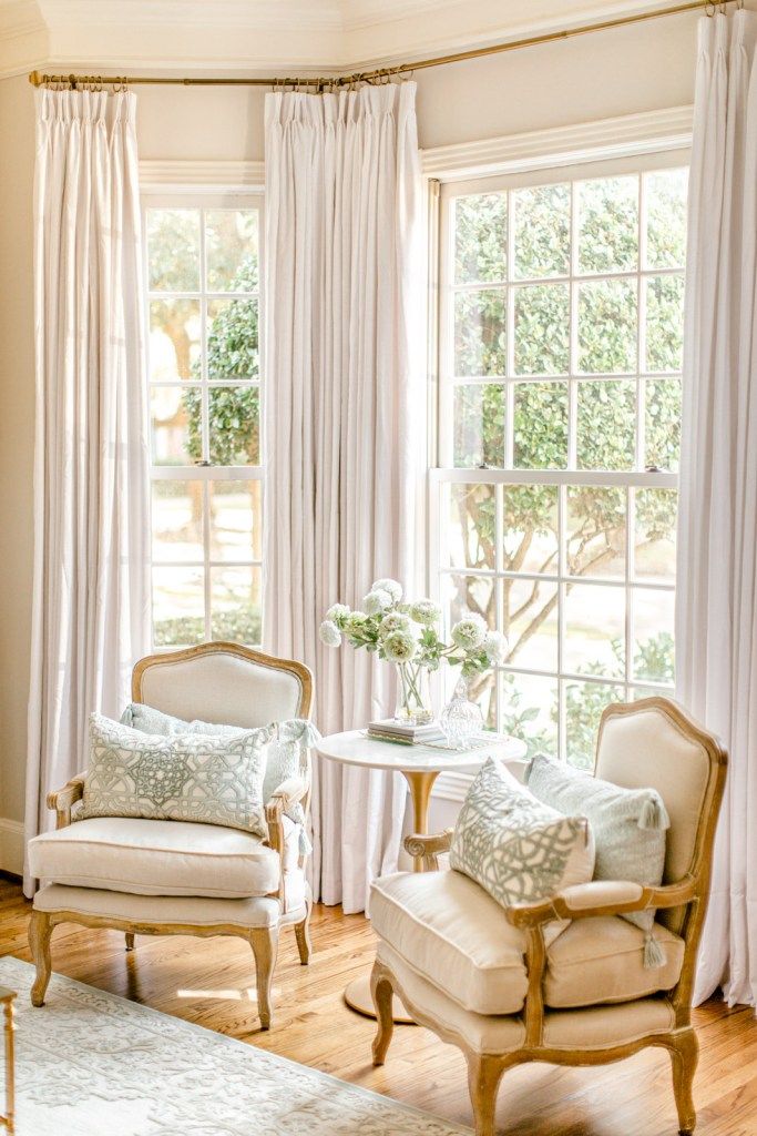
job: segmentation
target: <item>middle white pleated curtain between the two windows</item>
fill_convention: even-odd
[[[415,585],[419,168],[413,83],[266,100],[264,634],[314,669],[322,733],[393,709],[386,663],[319,643],[326,608],[358,605],[377,577]],[[397,776],[319,762],[325,902],[364,909],[396,866],[404,801]]]

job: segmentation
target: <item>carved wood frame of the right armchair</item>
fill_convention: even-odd
[[[638,897],[631,901],[604,903],[591,908],[577,909],[565,897],[537,904],[519,904],[507,909],[506,916],[514,927],[525,932],[525,964],[528,991],[522,1011],[525,1028],[523,1045],[507,1053],[479,1053],[470,1047],[465,1038],[452,1027],[424,1013],[422,1008],[403,991],[386,963],[377,959],[371,975],[371,991],[378,1019],[378,1033],[373,1042],[373,1064],[384,1064],[392,1041],[392,996],[396,992],[407,1012],[421,1026],[426,1026],[443,1041],[456,1045],[465,1054],[468,1062],[468,1085],[476,1119],[477,1136],[495,1136],[495,1108],[499,1080],[506,1069],[528,1061],[546,1061],[561,1066],[596,1066],[620,1061],[648,1046],[667,1050],[672,1062],[673,1091],[679,1116],[679,1130],[690,1134],[697,1122],[692,1100],[692,1081],[697,1068],[699,1045],[691,1026],[691,993],[697,961],[697,950],[707,910],[709,880],[712,874],[713,843],[717,816],[723,799],[727,754],[717,740],[698,726],[670,699],[640,699],[630,704],[613,704],[605,709],[599,725],[597,752],[602,734],[607,722],[645,710],[659,710],[680,733],[699,743],[709,759],[707,785],[699,813],[693,854],[687,875],[674,884],[659,887],[640,887]],[[405,841],[410,855],[423,858],[426,870],[438,867],[437,857],[447,852],[452,842],[452,829],[432,836],[412,835]],[[673,1013],[674,1025],[667,1033],[654,1033],[620,1045],[604,1049],[554,1049],[545,1044],[544,971],[547,951],[544,927],[554,919],[590,919],[598,916],[623,914],[647,908],[685,907],[680,935],[684,941],[683,963],[678,984],[667,992],[665,999]],[[632,1004],[632,1003],[629,1003]],[[552,1011],[560,1013],[558,1010]]]

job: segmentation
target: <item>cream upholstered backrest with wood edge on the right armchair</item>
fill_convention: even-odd
[[[662,796],[670,817],[664,884],[696,871],[703,858],[710,855],[705,837],[712,845],[713,811],[722,793],[716,772],[724,765],[725,754],[716,740],[668,699],[645,699],[605,710],[596,774],[629,788],[651,786]],[[708,820],[713,821],[709,826]],[[657,919],[678,930],[682,916],[681,909],[673,909],[659,911]]]

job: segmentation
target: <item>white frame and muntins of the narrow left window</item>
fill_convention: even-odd
[[[200,291],[199,292],[151,292],[150,291],[150,277],[149,277],[149,264],[148,264],[148,210],[150,209],[199,209],[200,210]],[[260,573],[261,580],[261,641],[263,638],[262,628],[262,612],[264,610],[264,586],[266,586],[266,573],[263,571],[263,560],[262,550],[264,548],[264,525],[266,525],[266,500],[264,500],[264,398],[266,398],[266,384],[263,376],[266,373],[264,366],[264,350],[263,350],[263,306],[264,296],[262,289],[263,281],[263,265],[264,265],[264,225],[263,225],[263,194],[262,191],[255,190],[234,190],[234,191],[219,191],[213,190],[202,190],[192,189],[187,190],[186,186],[179,185],[175,190],[166,189],[160,192],[145,192],[141,195],[141,209],[142,209],[142,231],[144,233],[143,241],[143,299],[144,299],[144,315],[143,315],[143,326],[144,326],[144,351],[145,351],[145,375],[146,375],[146,399],[148,409],[151,402],[151,392],[157,387],[176,387],[180,385],[177,382],[169,383],[154,383],[150,378],[150,302],[151,300],[197,300],[200,302],[200,316],[201,316],[201,378],[199,383],[188,383],[184,381],[188,386],[194,389],[200,389],[202,391],[202,461],[196,465],[187,466],[160,466],[157,465],[152,459],[152,424],[150,424],[150,536],[151,536],[151,548],[150,548],[150,637],[153,651],[174,651],[178,650],[179,646],[192,645],[192,644],[176,644],[174,645],[159,645],[154,643],[154,620],[153,620],[153,604],[152,604],[152,570],[153,568],[201,568],[203,573],[203,610],[204,610],[204,638],[210,641],[212,638],[211,630],[211,599],[212,599],[212,569],[213,568],[256,568]],[[258,224],[258,289],[254,292],[215,292],[205,287],[205,226],[204,226],[204,212],[205,210],[218,210],[218,209],[256,209],[259,214]],[[251,298],[258,300],[258,352],[259,352],[259,370],[256,379],[244,379],[237,381],[234,378],[224,379],[209,379],[208,377],[208,342],[207,342],[207,319],[205,311],[208,303],[215,300],[249,300]],[[244,389],[256,387],[260,392],[259,394],[259,465],[256,466],[211,466],[209,462],[210,456],[210,437],[209,437],[209,392],[212,387],[229,387],[238,386]],[[152,557],[152,484],[159,481],[195,481],[201,482],[203,486],[203,533],[202,533],[202,546],[203,546],[203,558],[202,561],[154,561]],[[250,560],[217,560],[210,556],[211,545],[211,533],[210,533],[210,485],[216,482],[224,481],[250,481],[250,482],[262,482],[263,487],[261,492],[261,558],[250,559]],[[260,646],[260,643],[245,644],[251,646]]]

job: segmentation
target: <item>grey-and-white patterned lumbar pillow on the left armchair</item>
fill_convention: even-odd
[[[263,769],[271,727],[236,737],[144,734],[90,715],[82,817],[194,820],[266,836]]]

